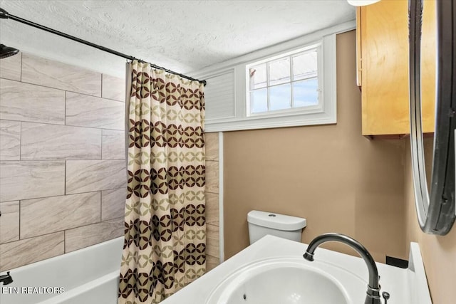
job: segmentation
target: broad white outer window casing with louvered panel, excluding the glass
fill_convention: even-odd
[[[355,21],[349,21],[189,73],[195,78],[207,80],[205,132],[335,124],[337,122],[336,34],[351,31],[354,28],[356,28]],[[318,106],[249,115],[247,65],[270,61],[275,56],[281,58],[286,56],[286,53],[317,44],[321,45],[322,54],[319,56],[321,57],[321,63],[319,63],[321,67],[318,66],[320,74],[318,77],[322,78],[321,82],[318,79],[318,86],[321,88],[321,99]],[[220,84],[219,79],[223,75],[227,75],[226,77],[229,76],[229,79],[233,80],[229,87]],[[214,86],[211,86],[211,83]],[[217,100],[211,100],[211,98]],[[227,109],[224,105],[229,105],[228,112],[220,110]]]

